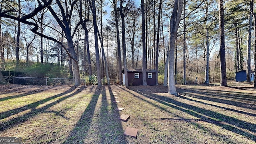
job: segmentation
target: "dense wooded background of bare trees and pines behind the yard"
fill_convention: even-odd
[[[224,0],[222,20],[220,0],[182,3],[171,56],[176,83],[193,83],[196,77],[200,83],[220,82],[220,62],[226,63],[228,80],[237,71],[254,70],[253,0]],[[121,83],[122,68],[144,66],[158,70],[164,79],[174,10],[173,0],[1,0],[1,69],[14,63],[16,70],[56,63],[68,67],[76,84],[79,74],[95,74],[101,84],[104,77]],[[222,61],[220,21],[225,31]]]

